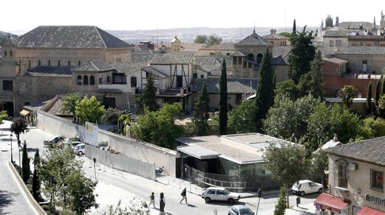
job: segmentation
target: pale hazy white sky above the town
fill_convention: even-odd
[[[309,2],[309,3],[307,3]],[[96,25],[104,30],[186,27],[319,26],[326,15],[343,21],[380,23],[380,0],[5,0],[0,30],[25,32],[39,25]],[[352,6],[350,6],[352,5]],[[382,8],[383,7],[383,8]],[[286,22],[285,22],[286,11]]]

